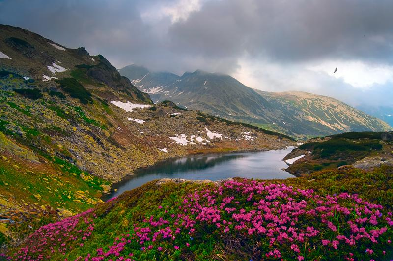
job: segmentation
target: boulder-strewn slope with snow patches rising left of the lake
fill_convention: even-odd
[[[171,102],[154,105],[84,48],[0,25],[0,51],[0,237],[13,243],[30,227],[100,203],[112,182],[159,160],[293,144]]]

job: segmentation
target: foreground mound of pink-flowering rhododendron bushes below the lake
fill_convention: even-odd
[[[220,186],[163,186],[146,197],[161,197],[160,204],[126,206],[124,196],[106,203],[111,207],[105,211],[46,225],[12,259],[385,260],[392,255],[392,213],[357,195],[322,196],[236,179]]]

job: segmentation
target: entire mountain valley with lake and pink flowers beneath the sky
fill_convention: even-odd
[[[0,260],[390,259],[391,130],[0,25]]]

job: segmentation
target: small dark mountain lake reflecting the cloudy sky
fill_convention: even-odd
[[[288,165],[282,159],[294,147],[281,150],[260,152],[220,153],[190,155],[183,158],[168,159],[151,167],[136,170],[133,176],[113,184],[110,194],[103,200],[111,199],[124,191],[137,188],[144,183],[159,178],[210,179],[219,180],[229,177],[260,179],[283,179],[294,177],[281,170]]]

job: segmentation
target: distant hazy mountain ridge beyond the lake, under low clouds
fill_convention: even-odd
[[[154,102],[170,99],[186,108],[292,136],[391,129],[382,120],[330,97],[304,92],[264,92],[224,74],[197,70],[177,76],[150,72],[137,65],[119,71],[141,91],[149,93]]]

